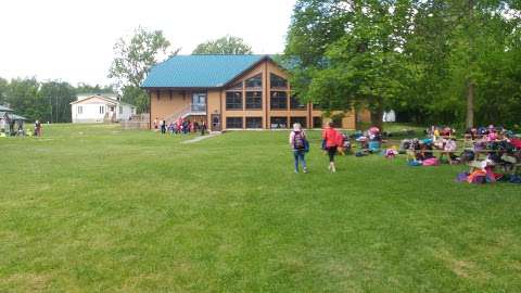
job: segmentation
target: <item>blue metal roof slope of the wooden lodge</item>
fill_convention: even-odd
[[[150,71],[143,88],[219,88],[268,55],[176,55]]]

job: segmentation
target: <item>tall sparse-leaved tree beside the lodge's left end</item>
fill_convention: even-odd
[[[115,58],[109,77],[117,80],[116,87],[123,92],[124,101],[136,104],[139,112],[145,112],[149,101],[140,89],[150,68],[163,55],[175,55],[179,50],[168,52],[170,42],[162,30],[145,30],[138,27],[129,39],[120,38],[114,46]]]

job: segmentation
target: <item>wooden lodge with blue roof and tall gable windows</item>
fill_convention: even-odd
[[[151,120],[205,120],[212,131],[322,127],[322,112],[292,94],[287,71],[270,55],[173,56],[151,69],[142,88]],[[350,112],[335,123],[354,129],[356,119]]]

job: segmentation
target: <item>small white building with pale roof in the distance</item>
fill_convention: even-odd
[[[78,95],[71,103],[73,123],[116,123],[129,120],[136,106],[123,103],[115,95]]]

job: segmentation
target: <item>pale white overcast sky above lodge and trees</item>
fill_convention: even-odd
[[[295,0],[4,0],[0,77],[111,85],[118,38],[161,29],[181,54],[225,35],[280,53]]]

